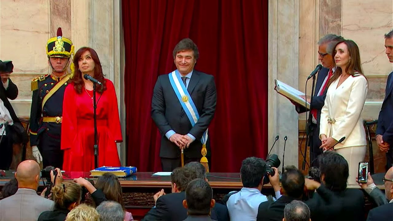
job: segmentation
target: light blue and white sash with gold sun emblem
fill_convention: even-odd
[[[188,93],[187,88],[185,87],[177,69],[169,73],[169,81],[171,82],[172,88],[176,93],[176,96],[179,99],[179,102],[182,105],[185,113],[187,114],[191,125],[194,126],[199,119],[198,110],[196,109],[194,101]],[[206,129],[201,138],[201,142],[205,147],[206,142],[208,141],[208,130],[209,129]]]

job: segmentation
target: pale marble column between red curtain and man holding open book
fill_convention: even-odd
[[[285,165],[297,165],[298,113],[288,99],[275,92],[274,79],[299,86],[299,0],[269,0],[268,29],[268,148],[279,135],[272,153],[282,160],[284,136],[288,136]]]

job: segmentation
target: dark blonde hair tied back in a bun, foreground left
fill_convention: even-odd
[[[74,182],[62,182],[52,187],[52,200],[55,208],[67,210],[70,204],[80,203],[82,188]]]

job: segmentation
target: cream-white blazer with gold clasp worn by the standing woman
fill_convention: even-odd
[[[325,105],[321,110],[321,134],[340,140],[334,149],[367,145],[360,113],[367,96],[367,80],[363,75],[349,76],[337,88],[340,77],[327,89]]]

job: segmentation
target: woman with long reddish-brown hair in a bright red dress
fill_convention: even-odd
[[[118,103],[112,81],[105,79],[97,53],[80,48],[73,58],[75,73],[66,87],[61,125],[63,170],[94,169],[93,82],[88,74],[102,83],[96,87],[98,166],[120,166],[116,142],[122,142]]]

